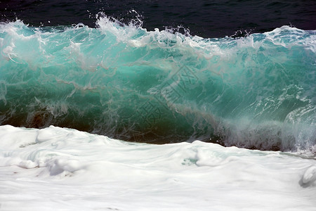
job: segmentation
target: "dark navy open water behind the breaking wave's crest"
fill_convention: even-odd
[[[237,36],[267,32],[293,25],[302,30],[316,29],[316,1],[0,1],[0,20],[15,20],[33,26],[96,24],[96,14],[128,23],[135,10],[143,16],[143,27],[153,30],[183,26],[200,37]]]

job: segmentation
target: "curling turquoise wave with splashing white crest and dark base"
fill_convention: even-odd
[[[105,16],[96,24],[1,23],[1,124],[152,143],[315,146],[315,31],[204,39]]]

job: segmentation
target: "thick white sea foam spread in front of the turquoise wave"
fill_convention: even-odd
[[[315,210],[316,160],[0,126],[1,210]]]

